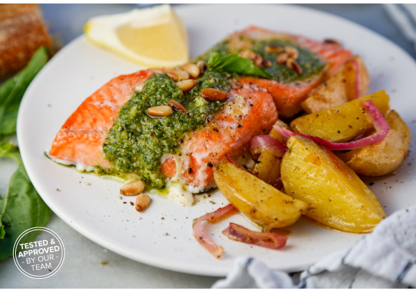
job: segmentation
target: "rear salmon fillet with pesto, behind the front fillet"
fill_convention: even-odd
[[[294,48],[295,52],[285,50],[288,46]],[[273,96],[279,117],[283,119],[293,117],[300,112],[300,103],[304,101],[311,89],[340,71],[345,62],[352,58],[350,51],[333,40],[318,42],[298,35],[277,33],[258,26],[250,26],[243,31],[232,33],[200,56],[198,60],[207,60],[209,55],[215,52],[242,55],[244,51],[259,54],[263,59],[261,68],[274,77],[268,80],[241,76],[240,81],[267,89]],[[279,55],[284,54],[288,54],[288,58],[293,57],[302,73],[299,74],[288,67],[286,63],[288,58],[284,56],[281,56],[283,58],[280,64],[277,62]]]

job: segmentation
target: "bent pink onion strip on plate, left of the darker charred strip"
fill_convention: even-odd
[[[202,221],[207,221],[209,223],[216,223],[221,221],[229,216],[239,213],[239,210],[236,209],[233,205],[229,204],[225,207],[222,207],[214,212],[207,213],[199,218],[193,220],[193,236],[196,240],[203,246],[206,250],[214,255],[217,259],[223,255],[223,248],[217,246],[214,241],[205,233],[204,228],[202,227]]]

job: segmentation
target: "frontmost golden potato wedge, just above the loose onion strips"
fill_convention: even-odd
[[[309,209],[309,203],[283,194],[228,160],[216,166],[214,179],[229,203],[266,232],[292,225]]]

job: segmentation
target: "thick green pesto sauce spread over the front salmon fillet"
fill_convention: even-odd
[[[228,92],[229,74],[207,70],[190,92],[183,93],[166,74],[153,74],[143,89],[135,92],[121,110],[103,144],[105,159],[112,169],[96,169],[100,174],[135,173],[151,187],[162,188],[165,177],[160,171],[160,158],[177,153],[188,132],[207,123],[224,102],[207,101],[200,96],[204,88]],[[151,117],[147,109],[179,101],[187,113],[173,111],[168,117]]]

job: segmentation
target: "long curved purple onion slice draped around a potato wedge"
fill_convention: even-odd
[[[387,136],[388,131],[390,130],[390,126],[388,125],[387,121],[385,121],[383,114],[381,114],[380,110],[376,108],[376,106],[371,100],[363,101],[361,105],[365,108],[365,112],[367,113],[368,117],[372,121],[373,126],[376,129],[376,134],[365,137],[363,139],[356,140],[356,141],[351,141],[351,142],[346,142],[346,143],[335,143],[335,142],[330,142],[328,140],[322,139],[320,137],[292,132],[291,130],[281,128],[279,126],[273,126],[273,128],[275,128],[277,132],[279,132],[281,135],[283,135],[286,138],[292,135],[299,135],[302,137],[309,138],[323,146],[327,146],[330,150],[336,150],[336,151],[362,148],[362,147],[376,144],[376,143],[383,141],[385,136]]]

